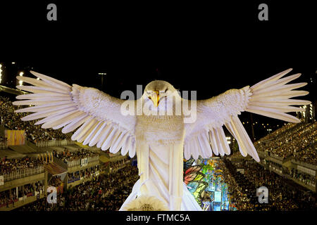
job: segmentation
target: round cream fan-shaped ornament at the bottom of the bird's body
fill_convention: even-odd
[[[155,196],[140,195],[134,200],[130,201],[123,211],[168,211],[166,203],[159,200]]]

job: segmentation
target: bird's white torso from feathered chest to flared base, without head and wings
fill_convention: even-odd
[[[170,210],[201,210],[183,182],[183,121],[182,115],[137,116],[135,134],[140,179],[121,209],[139,195],[150,195],[159,198]]]

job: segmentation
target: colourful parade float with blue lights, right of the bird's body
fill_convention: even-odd
[[[184,160],[184,182],[204,211],[235,211],[218,160],[218,157]]]

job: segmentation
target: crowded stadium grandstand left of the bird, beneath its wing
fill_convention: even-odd
[[[61,207],[46,203],[50,186],[56,188],[58,203],[66,203],[64,210],[94,209],[97,195],[111,202],[105,209],[118,210],[131,191],[121,192],[120,188],[130,183],[132,188],[138,177],[136,167],[130,168],[132,160],[128,156],[82,146],[61,131],[43,131],[34,123],[22,122],[23,115],[13,113],[12,101],[18,91],[1,90],[4,92],[0,92],[0,211],[61,210]],[[126,183],[117,189],[112,188],[123,174],[131,179],[125,179]],[[98,191],[87,198],[94,188]],[[84,192],[82,200],[70,194],[80,191]],[[121,196],[120,201],[111,197],[113,193]],[[71,198],[76,199],[74,205],[68,205]],[[46,203],[44,207],[43,203]],[[85,204],[82,207],[77,203]]]

